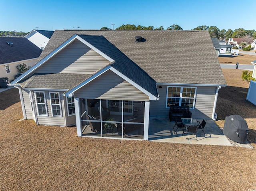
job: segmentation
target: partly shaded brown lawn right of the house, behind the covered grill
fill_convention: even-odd
[[[256,144],[256,106],[246,100],[249,83],[242,80],[242,70],[222,69],[228,87],[222,87],[219,91],[216,112],[219,127],[224,126],[226,116],[237,114],[242,116],[250,129],[248,141],[254,146]]]

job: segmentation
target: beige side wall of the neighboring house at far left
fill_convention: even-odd
[[[29,59],[29,60],[24,60],[24,61],[18,61],[18,62],[12,62],[12,63],[6,63],[6,64],[1,64],[0,65],[0,77],[6,77],[9,80],[9,83],[14,80],[14,77],[17,75],[18,71],[16,69],[16,67],[18,66],[18,64],[26,64],[27,67],[30,66],[34,66],[36,64],[38,58],[35,59]],[[5,70],[5,65],[9,65],[10,68],[10,73],[6,74],[6,70]]]

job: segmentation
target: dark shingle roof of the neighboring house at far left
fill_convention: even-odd
[[[7,43],[13,43],[12,46]],[[37,58],[42,50],[26,38],[0,37],[0,64]]]

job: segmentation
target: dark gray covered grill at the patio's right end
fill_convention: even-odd
[[[230,115],[226,117],[223,133],[232,141],[246,143],[249,133],[246,120],[240,115]]]

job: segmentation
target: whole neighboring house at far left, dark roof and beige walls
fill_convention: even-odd
[[[26,38],[0,37],[0,77],[7,77],[9,82],[18,74],[18,64],[32,67],[42,50]]]

